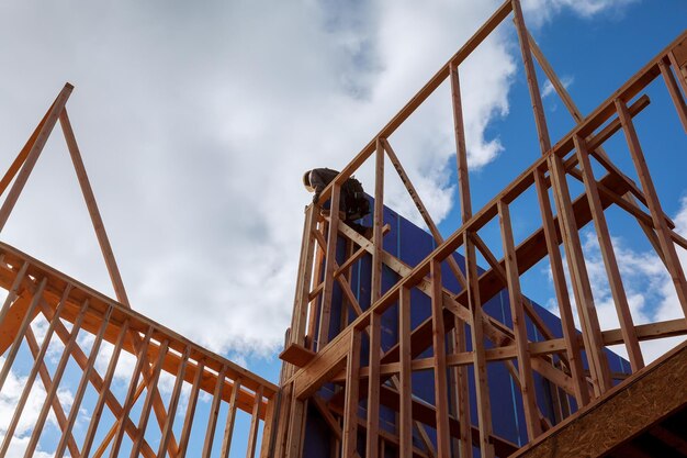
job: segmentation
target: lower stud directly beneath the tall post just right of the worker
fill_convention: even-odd
[[[372,312],[370,316],[370,375],[368,377],[368,435],[365,458],[378,458],[380,449],[380,358],[382,349],[382,316]],[[384,458],[384,457],[381,457]]]

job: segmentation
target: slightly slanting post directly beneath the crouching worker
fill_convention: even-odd
[[[322,292],[322,312],[319,314],[319,333],[317,335],[317,350],[329,342],[329,320],[331,317],[331,293],[334,291],[334,269],[336,268],[336,245],[339,230],[339,202],[341,185],[336,180],[331,183],[331,199],[329,200],[329,232],[327,234],[327,256],[325,258],[325,287]]]

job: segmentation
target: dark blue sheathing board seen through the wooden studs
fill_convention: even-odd
[[[374,208],[371,201],[370,208]],[[362,221],[363,225],[371,226],[372,219],[367,216]],[[409,267],[415,267],[423,259],[427,257],[429,253],[435,248],[436,244],[430,234],[410,223],[408,220],[399,216],[393,210],[384,209],[384,224],[391,226],[390,232],[384,237],[384,250],[393,256],[399,258],[403,262]],[[342,239],[339,239],[337,246],[337,260],[342,262],[346,255],[346,244]],[[454,254],[454,258],[464,271],[464,259],[461,255]],[[360,261],[352,266],[350,275],[350,286],[356,294],[361,309],[364,311],[370,306],[370,284],[371,284],[371,256],[364,256]],[[483,270],[480,269],[480,272]],[[460,292],[461,287],[458,280],[451,272],[447,261],[441,265],[441,272],[444,288]],[[382,273],[382,293],[393,288],[398,280],[398,276],[388,269],[383,267]],[[431,314],[431,304],[427,295],[417,290],[412,291],[412,324],[417,326]],[[331,301],[331,321],[329,326],[329,338],[334,338],[347,323],[350,323],[354,319],[352,309],[349,308],[347,323],[341,319],[342,314],[342,294],[338,284],[335,286],[333,301]],[[532,302],[532,306],[555,337],[562,337],[562,329],[560,320],[550,313],[548,310]],[[503,322],[504,324],[511,326],[511,312],[510,303],[508,300],[508,292],[502,290],[494,298],[483,304],[483,308],[487,314]],[[386,351],[398,342],[398,308],[397,304],[391,306],[382,315],[382,350]],[[528,336],[531,340],[542,340],[543,336],[537,332],[534,325],[529,319],[527,319]],[[471,349],[470,342],[470,328],[466,326],[466,340],[468,349]],[[486,344],[486,347],[491,347],[491,344]],[[627,372],[629,364],[620,358],[618,355],[607,350],[609,356],[610,370],[613,372]],[[369,355],[369,340],[367,335],[363,334],[362,350],[361,350],[361,365],[368,365]],[[421,357],[431,357],[431,349],[426,350]],[[583,358],[584,359],[584,358]],[[514,360],[514,365],[517,367],[517,362]],[[586,361],[585,361],[586,367]],[[472,366],[469,369],[469,387],[470,387],[470,405],[471,405],[471,420],[474,425],[477,424],[476,400],[475,400],[475,387],[474,387],[474,370]],[[527,443],[527,431],[525,426],[525,415],[522,410],[522,403],[520,400],[520,393],[517,384],[510,377],[508,369],[504,362],[492,362],[487,366],[487,379],[489,388],[489,401],[492,404],[492,421],[494,434],[510,440],[518,445],[525,445]],[[413,372],[413,394],[416,398],[425,400],[433,404],[433,372],[430,370]],[[534,389],[538,405],[540,406],[544,416],[547,416],[551,423],[555,423],[551,386],[539,375],[534,373]],[[326,384],[320,390],[319,394],[329,399],[336,387],[334,384]],[[567,402],[571,409],[576,409],[575,401],[571,396],[567,398]],[[364,416],[365,400],[360,403],[360,413]],[[306,422],[306,437],[304,442],[303,456],[307,458],[318,458],[329,456],[331,447],[330,440],[333,435],[324,426],[324,421],[319,417],[319,414],[309,409],[307,412],[308,418]],[[395,416],[396,413],[381,406],[380,409],[380,427],[395,433]],[[436,438],[436,432],[427,427],[429,437],[433,440]],[[361,457],[364,457],[364,436],[359,431],[359,453]],[[414,443],[418,447],[421,447],[421,443],[418,437],[414,437]],[[475,456],[478,455],[478,449],[475,448]],[[387,451],[387,456],[393,456],[391,451]]]

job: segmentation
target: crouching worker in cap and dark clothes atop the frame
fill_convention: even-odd
[[[314,192],[313,203],[317,203],[319,194],[339,175],[330,168],[315,168],[303,174],[303,185],[308,192]],[[372,227],[365,227],[356,221],[370,214],[370,201],[362,185],[354,177],[341,185],[339,210],[344,213],[344,222],[367,238],[372,236]]]

